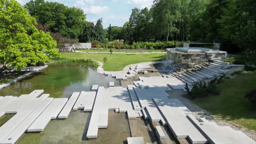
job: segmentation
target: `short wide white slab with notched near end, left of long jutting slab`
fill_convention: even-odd
[[[77,102],[74,104],[73,110],[84,109],[84,111],[91,111],[95,96],[96,92],[81,92]]]

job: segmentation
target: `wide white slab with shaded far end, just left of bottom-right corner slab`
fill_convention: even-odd
[[[177,139],[188,138],[191,143],[207,142],[207,139],[187,118],[190,111],[178,99],[154,98],[154,101],[162,115],[167,119],[168,127]]]

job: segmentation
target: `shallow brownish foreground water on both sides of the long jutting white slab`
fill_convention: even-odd
[[[89,122],[88,112],[73,111],[67,119],[53,120],[42,133],[28,133],[20,137],[19,144],[34,143],[125,143],[131,137],[125,113],[109,111],[108,128],[98,130],[98,138],[84,140],[86,123]]]

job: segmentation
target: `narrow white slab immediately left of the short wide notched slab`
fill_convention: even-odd
[[[63,107],[63,109],[61,110],[61,113],[59,114],[58,118],[62,119],[62,118],[67,118],[69,115],[69,112],[71,111],[72,107],[75,104],[75,101],[77,101],[78,97],[79,97],[79,92],[74,92],[71,97],[68,99],[66,105]]]

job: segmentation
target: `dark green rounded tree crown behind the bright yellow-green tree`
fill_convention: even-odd
[[[82,9],[69,8],[57,2],[35,0],[26,3],[24,7],[50,32],[61,33],[64,37],[71,39],[78,38],[86,19]]]

